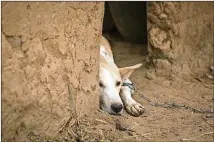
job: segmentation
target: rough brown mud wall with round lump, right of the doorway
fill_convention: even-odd
[[[160,76],[207,71],[213,64],[213,2],[148,2],[148,61]]]

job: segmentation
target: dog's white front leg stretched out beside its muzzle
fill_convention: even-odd
[[[127,79],[124,83],[131,83],[131,81]],[[126,111],[133,116],[139,116],[145,111],[145,109],[140,103],[136,102],[132,98],[133,93],[134,90],[132,90],[129,86],[122,86],[120,97],[123,101]]]

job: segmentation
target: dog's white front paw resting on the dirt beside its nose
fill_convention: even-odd
[[[136,117],[143,114],[143,112],[145,111],[145,108],[137,102],[126,105],[125,108],[129,114]]]

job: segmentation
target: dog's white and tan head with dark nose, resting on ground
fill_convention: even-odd
[[[123,103],[120,98],[120,89],[125,79],[142,64],[118,68],[115,64],[101,64],[99,69],[100,108],[110,114],[121,114]]]

